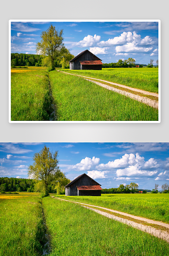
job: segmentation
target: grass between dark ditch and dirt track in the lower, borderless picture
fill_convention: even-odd
[[[44,198],[43,206],[51,238],[49,256],[166,256],[169,253],[166,242],[79,205]]]

